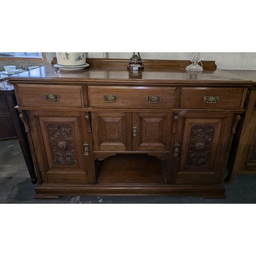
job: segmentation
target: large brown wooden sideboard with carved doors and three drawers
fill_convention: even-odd
[[[253,86],[205,61],[88,59],[11,76],[35,162],[35,198],[169,195],[223,198],[233,135]]]

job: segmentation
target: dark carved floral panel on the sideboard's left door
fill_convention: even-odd
[[[57,166],[75,166],[77,162],[75,159],[72,127],[67,123],[51,123],[47,128],[54,164]]]

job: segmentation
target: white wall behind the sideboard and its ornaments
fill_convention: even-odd
[[[178,59],[190,60],[190,52],[140,52],[142,59]],[[89,52],[90,58],[123,58],[129,59],[132,52]],[[255,52],[202,52],[201,60],[215,60],[219,69],[256,70]]]

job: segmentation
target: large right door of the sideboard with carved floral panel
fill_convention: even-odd
[[[231,113],[186,113],[178,117],[171,151],[170,168],[175,173],[171,183],[222,183],[232,118]]]

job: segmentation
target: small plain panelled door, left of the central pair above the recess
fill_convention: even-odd
[[[95,151],[131,151],[131,113],[92,112]]]

